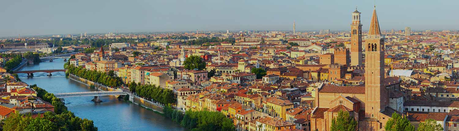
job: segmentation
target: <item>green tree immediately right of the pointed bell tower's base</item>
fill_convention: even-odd
[[[403,117],[400,114],[392,113],[392,118],[384,126],[386,131],[414,131],[414,126],[409,123],[408,118]]]

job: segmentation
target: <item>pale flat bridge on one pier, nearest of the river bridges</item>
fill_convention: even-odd
[[[72,93],[54,94],[54,96],[56,96],[58,98],[73,97],[73,96],[94,96],[94,99],[92,100],[94,102],[102,102],[99,99],[99,96],[105,96],[105,95],[127,95],[127,93],[123,92],[123,91],[86,91],[86,92],[72,92]]]

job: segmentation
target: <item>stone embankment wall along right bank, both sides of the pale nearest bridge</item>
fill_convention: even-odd
[[[120,89],[113,89],[113,88],[110,88],[110,87],[107,87],[107,86],[104,86],[104,85],[101,85],[101,84],[97,84],[95,82],[92,82],[90,80],[87,80],[87,79],[83,79],[83,78],[80,78],[76,75],[73,75],[73,74],[69,74],[68,75],[68,78],[71,79],[71,80],[74,80],[74,81],[77,81],[81,84],[85,84],[87,86],[90,86],[90,85],[94,85],[95,86],[95,89],[99,89],[99,90],[103,90],[103,91],[120,91]],[[150,110],[153,110],[155,112],[159,112],[159,113],[164,113],[163,112],[163,109],[164,109],[164,106],[162,105],[159,105],[159,104],[156,104],[150,100],[146,100],[146,99],[143,99],[137,95],[134,95],[132,93],[128,93],[129,94],[129,101],[132,102],[133,104],[135,105],[140,105],[141,107],[145,107],[147,109],[150,109]]]

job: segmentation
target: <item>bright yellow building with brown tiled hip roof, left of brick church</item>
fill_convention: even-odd
[[[264,113],[273,117],[280,117],[285,120],[285,112],[293,109],[293,103],[290,100],[284,100],[273,96],[263,101],[263,109]]]

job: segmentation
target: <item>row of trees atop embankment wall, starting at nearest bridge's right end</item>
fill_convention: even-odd
[[[129,83],[128,86],[131,92],[135,92],[140,97],[159,102],[162,105],[175,104],[176,97],[170,89],[163,89],[151,84],[136,84],[135,82]]]

